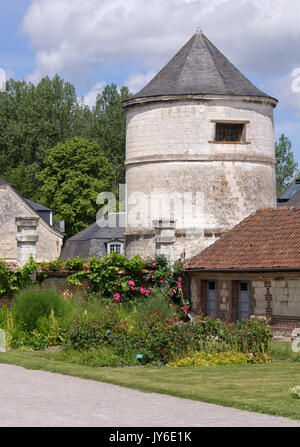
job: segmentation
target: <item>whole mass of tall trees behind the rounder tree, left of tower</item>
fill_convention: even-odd
[[[73,137],[95,141],[113,165],[111,186],[124,182],[125,111],[130,93],[108,85],[90,109],[75,87],[59,76],[45,77],[35,86],[7,82],[0,95],[0,177],[24,197],[41,202],[38,175],[51,148]],[[48,203],[52,207],[52,203]]]

